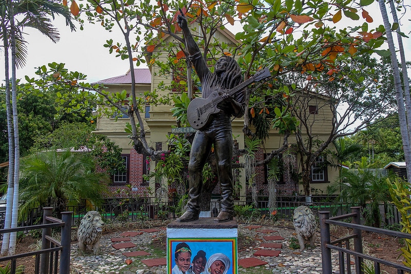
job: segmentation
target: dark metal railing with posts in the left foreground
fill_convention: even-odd
[[[0,229],[0,233],[2,234],[16,231],[29,231],[32,229],[43,229],[41,250],[0,257],[0,262],[10,261],[11,274],[14,274],[16,271],[17,259],[31,256],[35,256],[35,274],[69,274],[72,212],[62,212],[62,219],[60,220],[51,217],[52,210],[52,207],[44,208],[42,225]],[[53,227],[61,227],[60,241],[51,237],[51,228]],[[59,272],[58,269],[60,270]]]

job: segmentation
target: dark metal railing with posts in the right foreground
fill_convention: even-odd
[[[341,216],[329,217],[329,211],[319,211],[320,217],[320,230],[321,230],[321,253],[322,253],[322,266],[323,274],[332,273],[331,264],[331,250],[338,251],[338,261],[340,273],[351,273],[351,256],[354,258],[354,266],[357,274],[364,273],[364,260],[373,262],[373,267],[376,274],[381,273],[380,265],[386,265],[397,269],[397,273],[403,274],[404,271],[411,271],[411,268],[404,265],[396,264],[387,260],[383,260],[377,257],[372,257],[363,253],[362,248],[362,231],[376,232],[385,234],[388,236],[411,239],[411,234],[364,226],[361,225],[361,208],[351,207],[351,213],[343,214]],[[342,222],[339,220],[352,218],[351,223]],[[331,242],[330,239],[330,225],[337,225],[352,228],[352,234],[339,238]],[[350,249],[350,239],[353,239],[353,250]],[[344,247],[343,247],[344,245]]]

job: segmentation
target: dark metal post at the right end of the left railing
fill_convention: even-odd
[[[70,273],[70,244],[71,244],[71,215],[72,211],[61,212],[61,220],[64,226],[61,229],[60,274]]]

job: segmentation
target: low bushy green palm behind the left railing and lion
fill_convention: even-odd
[[[81,199],[99,204],[105,191],[105,185],[100,183],[104,174],[96,172],[95,167],[91,156],[70,149],[50,149],[22,158],[20,199],[25,202],[19,216],[25,217],[31,208],[46,205],[49,197],[57,214]]]

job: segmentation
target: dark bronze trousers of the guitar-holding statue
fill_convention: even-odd
[[[233,213],[233,134],[229,116],[220,114],[202,130],[196,132],[190,152],[189,202],[186,210],[200,213],[199,197],[202,190],[202,169],[214,144],[218,181],[221,184],[221,211]]]

